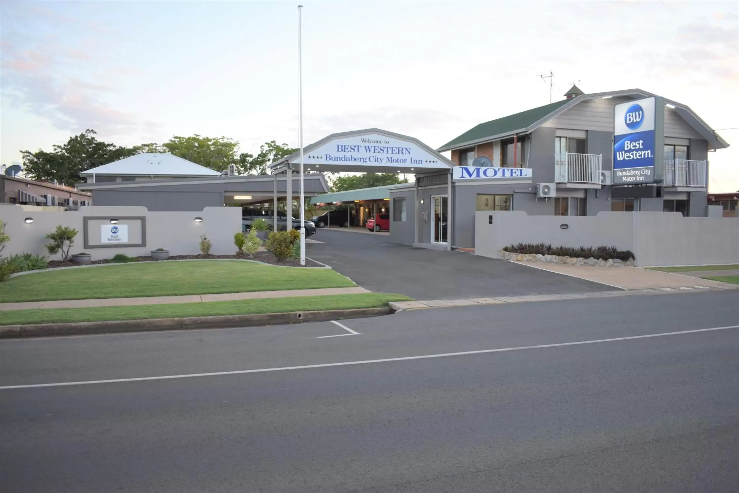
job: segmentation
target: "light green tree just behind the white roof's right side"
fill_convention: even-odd
[[[153,148],[152,146],[157,146],[157,144],[146,145],[150,146],[150,149]],[[166,149],[165,152],[215,171],[228,169],[229,164],[239,164],[239,158],[236,157],[239,143],[228,137],[201,137],[197,134],[191,137],[175,135],[163,143],[162,147]]]

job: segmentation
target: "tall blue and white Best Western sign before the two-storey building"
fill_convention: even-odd
[[[617,104],[613,130],[613,184],[654,183],[655,98]]]

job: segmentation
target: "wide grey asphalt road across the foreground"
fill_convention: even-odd
[[[0,341],[0,386],[276,369],[0,389],[0,491],[736,492],[739,328],[624,338],[735,326],[738,302]]]

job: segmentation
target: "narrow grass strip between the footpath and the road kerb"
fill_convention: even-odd
[[[336,296],[304,296],[297,298],[244,299],[238,302],[183,303],[180,305],[9,310],[0,312],[0,325],[344,310],[349,308],[381,307],[388,302],[406,301],[408,299],[408,296],[402,294],[364,293],[341,294]]]

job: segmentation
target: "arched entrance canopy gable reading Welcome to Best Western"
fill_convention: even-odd
[[[331,134],[304,147],[303,154],[305,171],[313,172],[416,174],[454,167],[420,140],[381,129]],[[274,163],[272,172],[281,173],[288,165],[296,169],[299,164],[300,152],[295,152]]]

